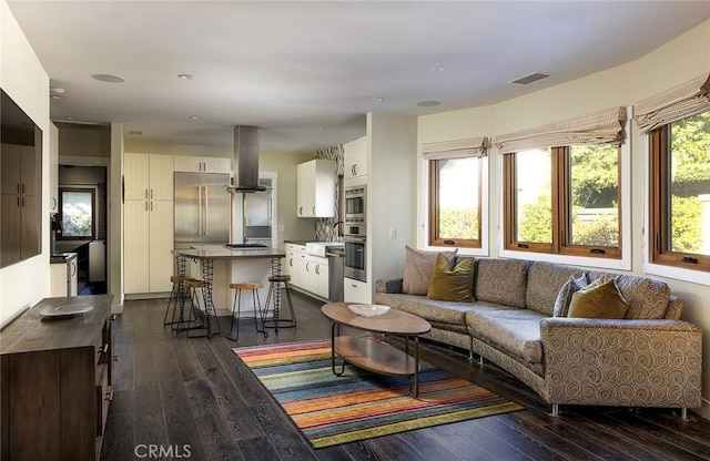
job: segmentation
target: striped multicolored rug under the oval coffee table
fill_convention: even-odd
[[[336,377],[329,340],[234,351],[315,448],[521,409],[426,362],[416,399],[406,378],[349,365]]]

